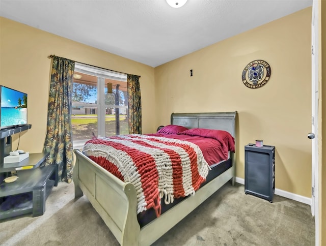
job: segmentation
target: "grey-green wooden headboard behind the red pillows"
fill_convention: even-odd
[[[206,128],[224,130],[235,138],[235,119],[237,111],[216,113],[172,113],[171,125],[186,128]]]

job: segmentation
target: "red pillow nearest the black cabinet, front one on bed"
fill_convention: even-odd
[[[228,150],[234,152],[234,138],[227,131],[204,129],[204,128],[192,128],[179,134],[216,139],[221,144],[227,146]]]

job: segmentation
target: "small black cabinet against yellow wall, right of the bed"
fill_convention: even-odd
[[[244,192],[273,202],[275,146],[244,146]]]

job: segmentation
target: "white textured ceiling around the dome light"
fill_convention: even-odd
[[[156,67],[309,6],[312,0],[188,0],[181,8],[166,0],[0,0],[0,15]]]

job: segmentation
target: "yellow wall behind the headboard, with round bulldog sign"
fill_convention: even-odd
[[[276,188],[311,197],[310,45],[307,8],[156,67],[156,126],[172,112],[237,110],[237,177],[244,145],[262,139],[276,146]],[[250,89],[241,73],[255,59],[269,63],[271,77]]]

